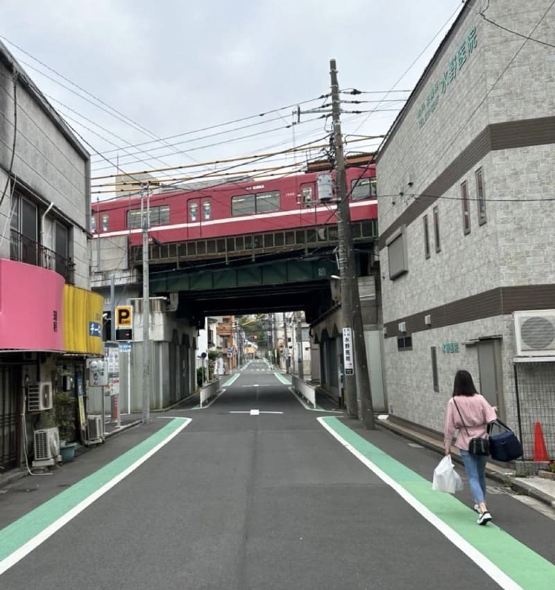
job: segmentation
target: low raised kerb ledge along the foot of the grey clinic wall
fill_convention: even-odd
[[[378,418],[376,423],[382,428],[387,428],[406,439],[425,446],[426,448],[436,450],[439,455],[443,455],[443,440],[441,439],[431,435],[425,435],[416,430],[416,428],[410,428],[408,425],[391,421],[387,416],[385,416],[384,419]],[[462,463],[458,449],[452,447],[451,454],[455,461]],[[488,478],[510,487],[517,494],[531,496],[531,498],[540,500],[555,508],[555,480],[547,480],[538,477],[516,477],[515,470],[511,469],[511,464],[507,464],[507,466],[504,467],[493,462],[488,462],[486,464],[486,475]]]

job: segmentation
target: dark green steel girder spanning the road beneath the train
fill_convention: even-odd
[[[150,289],[156,294],[283,285],[322,280],[334,273],[337,267],[330,258],[273,260],[226,269],[164,271],[151,275]]]

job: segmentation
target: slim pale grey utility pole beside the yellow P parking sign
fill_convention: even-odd
[[[148,228],[150,226],[150,197],[148,184],[141,191],[143,225],[143,424],[151,419],[151,323],[150,285],[148,272]]]

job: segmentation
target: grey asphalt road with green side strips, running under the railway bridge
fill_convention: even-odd
[[[326,419],[340,437],[349,430],[342,444],[318,420],[323,416],[341,414],[307,410],[264,362],[253,362],[210,407],[155,414],[151,424],[123,432],[52,477],[25,478],[0,494],[0,529],[9,532],[2,537],[0,530],[0,548],[43,520],[47,525],[56,509],[71,514],[72,503],[123,471],[121,457],[144,459],[160,442],[153,437],[165,442],[0,573],[0,588],[544,588],[533,571],[529,586],[526,577],[511,586],[488,569],[479,556],[492,545],[509,552],[510,562],[519,559],[524,571],[539,569],[548,578],[553,571],[555,587],[555,521],[499,491],[490,496],[498,526],[479,527],[468,489],[458,498],[429,491],[438,455],[391,432]],[[173,438],[165,441],[167,434]],[[345,444],[368,450],[425,509]],[[75,499],[77,489],[82,496]],[[449,540],[426,510],[461,537]],[[478,557],[461,550],[465,543]],[[511,564],[503,563],[510,577]]]

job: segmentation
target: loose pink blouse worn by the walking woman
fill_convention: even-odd
[[[461,416],[457,412],[456,405],[459,407],[459,411],[463,416],[464,424],[461,421]],[[492,422],[497,418],[495,410],[489,405],[484,396],[475,394],[473,396],[455,396],[450,398],[447,403],[447,412],[445,413],[445,432],[444,432],[444,446],[450,448],[452,444],[456,448],[462,448],[468,450],[468,444],[470,439],[475,437],[484,437],[486,435],[486,427],[488,423]],[[452,442],[454,432],[459,429],[459,435],[456,437],[456,441]],[[468,430],[468,434],[467,431]]]

